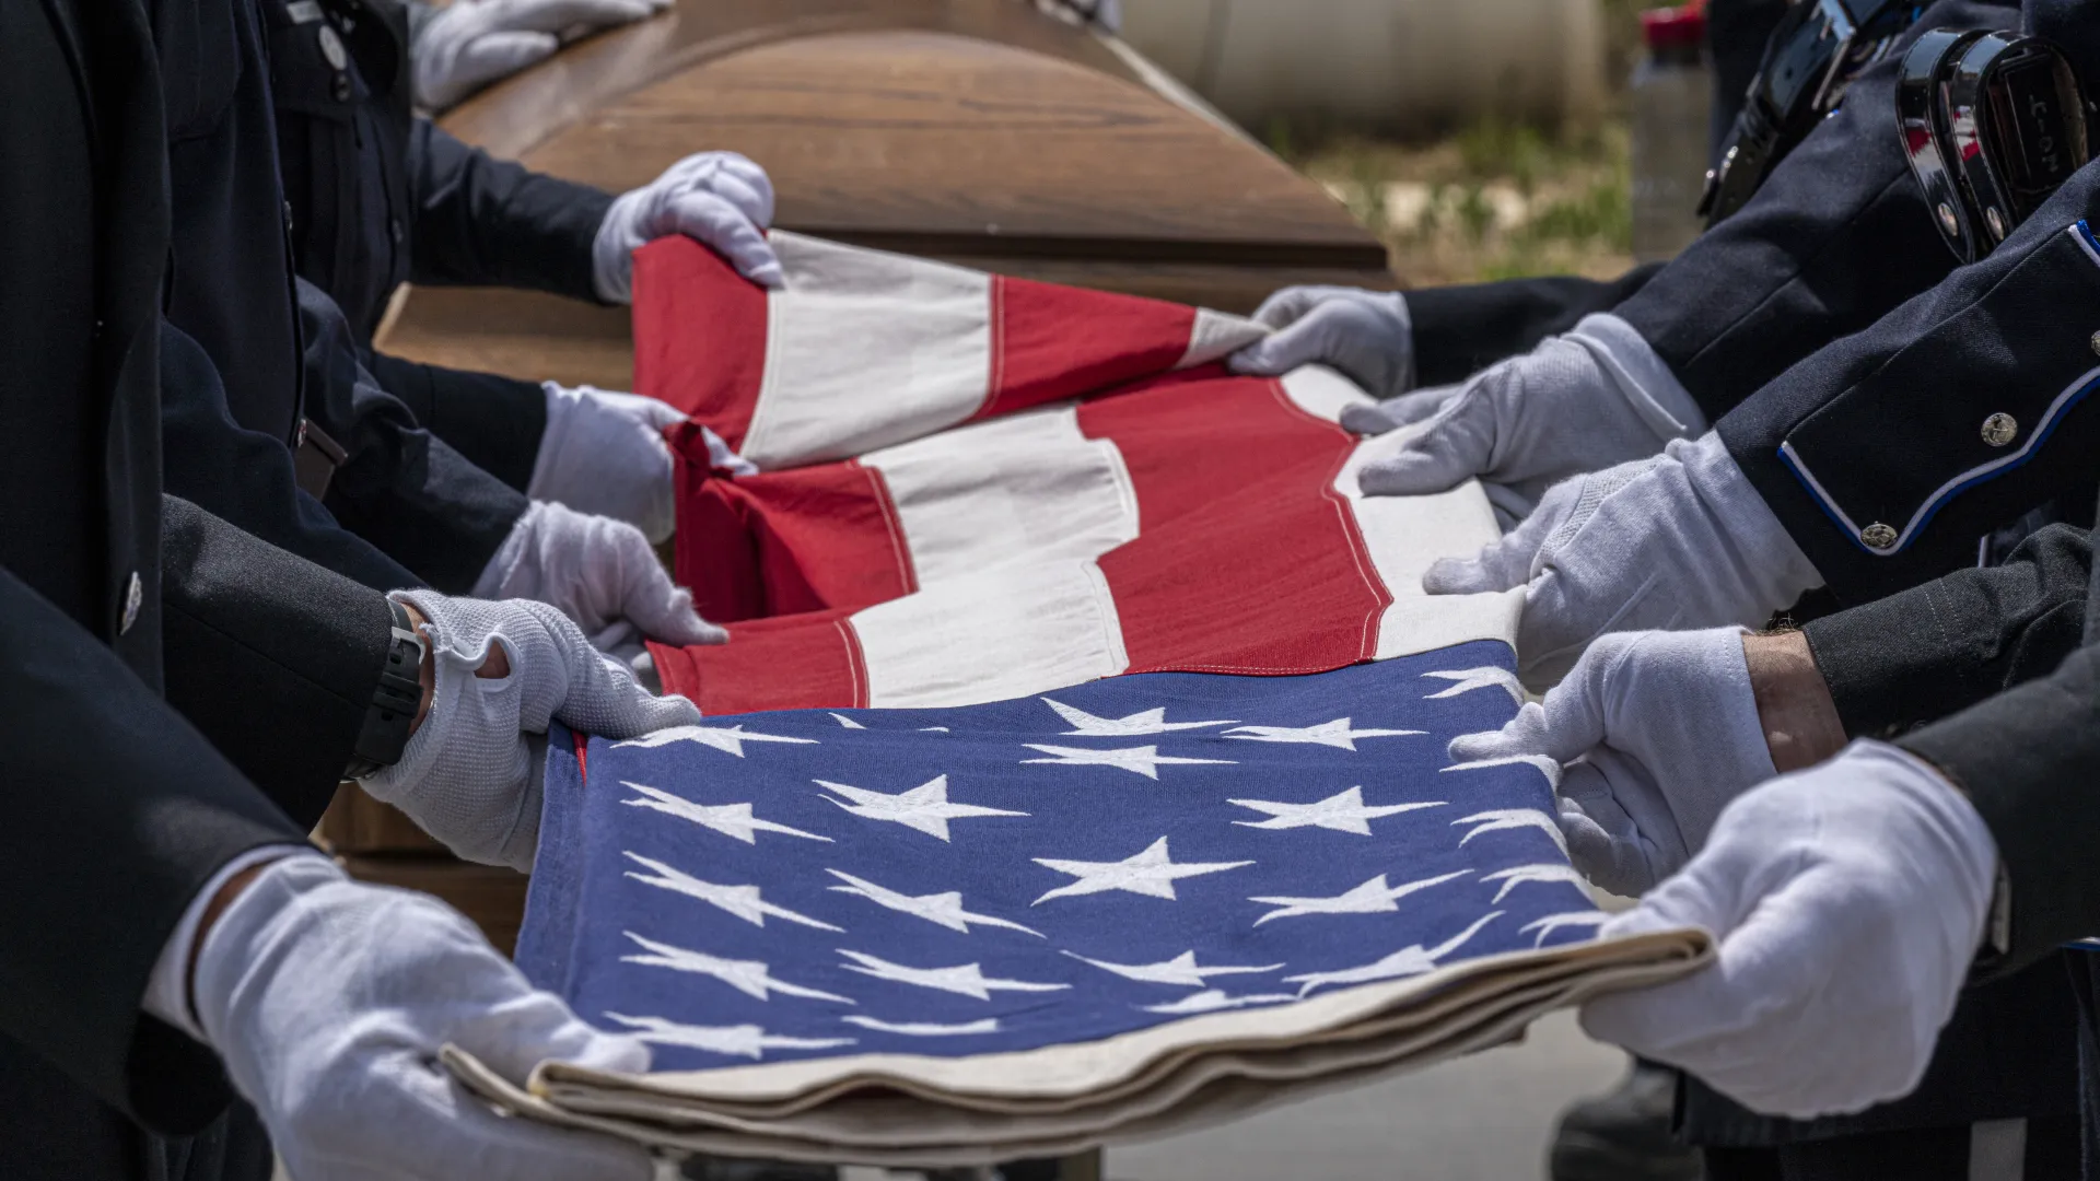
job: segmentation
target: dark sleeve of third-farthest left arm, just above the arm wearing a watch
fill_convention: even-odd
[[[380,389],[342,311],[304,279],[298,317],[307,416],[346,454],[330,479],[328,509],[430,586],[470,590],[525,515],[525,494],[468,462]]]

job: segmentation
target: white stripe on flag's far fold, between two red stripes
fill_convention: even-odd
[[[762,469],[918,439],[991,382],[991,275],[775,231],[785,290],[741,454]]]

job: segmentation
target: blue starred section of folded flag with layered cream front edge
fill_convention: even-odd
[[[645,1143],[941,1164],[1493,1044],[1699,950],[1596,941],[1539,769],[1447,763],[1516,693],[1480,641],[556,735],[519,965],[657,1074],[456,1065]]]

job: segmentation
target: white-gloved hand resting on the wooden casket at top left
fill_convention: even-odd
[[[416,105],[443,111],[563,42],[653,17],[670,0],[452,0],[410,40]]]

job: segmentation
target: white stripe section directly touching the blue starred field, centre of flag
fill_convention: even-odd
[[[874,708],[1023,698],[1130,666],[1100,567],[1014,563],[853,614]],[[998,672],[987,672],[998,654]]]

